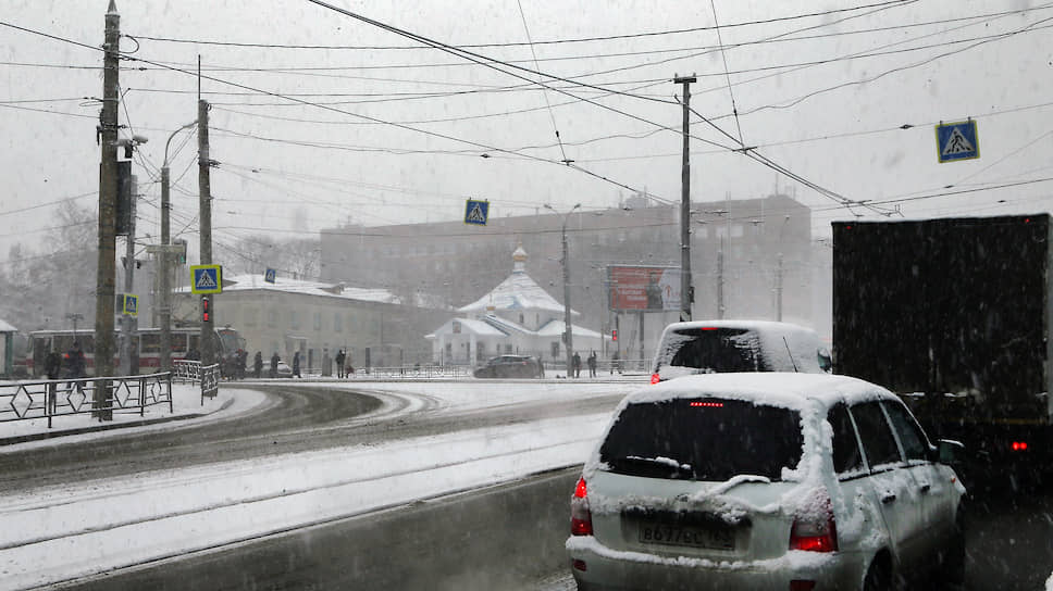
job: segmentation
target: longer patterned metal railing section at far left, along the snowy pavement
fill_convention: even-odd
[[[100,389],[107,393],[102,405],[96,406],[95,395]],[[147,406],[165,403],[169,412],[173,412],[172,375],[168,373],[18,381],[0,385],[0,423],[47,418],[50,429],[57,416],[134,408],[144,416]]]

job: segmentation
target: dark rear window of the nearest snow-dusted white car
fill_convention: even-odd
[[[616,474],[723,481],[739,475],[781,479],[801,461],[797,411],[718,398],[627,406],[599,450]]]

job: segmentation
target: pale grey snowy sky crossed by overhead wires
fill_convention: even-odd
[[[98,47],[107,3],[8,0],[0,5],[0,22]],[[202,80],[201,88],[214,104],[211,155],[221,163],[212,176],[218,241],[231,243],[260,231],[310,235],[347,221],[457,219],[467,197],[488,199],[491,215],[498,216],[533,213],[544,203],[611,206],[630,193],[617,184],[678,201],[681,109],[674,97],[680,89],[671,78],[690,73],[698,76],[692,106],[734,137],[692,116],[698,138],[692,141],[694,201],[760,197],[778,184],[792,187],[800,201],[815,209],[818,234],[828,231],[833,218],[876,215],[864,208],[838,208],[835,199],[703,141],[738,147],[741,127],[746,146],[759,147],[760,154],[850,200],[1035,181],[904,201],[900,205],[908,216],[1050,208],[1053,29],[1048,27],[1053,26],[1053,3],[717,0],[720,39],[735,46],[723,53],[713,51],[718,40],[711,29],[543,42],[711,27],[709,2],[332,3],[455,46],[526,41],[525,21],[536,65],[529,46],[472,51],[634,96],[605,96],[552,79],[548,85],[572,96],[523,89],[526,83],[520,78],[436,49],[360,49],[418,43],[307,0],[117,0],[122,33],[138,40],[125,38],[123,51],[188,72],[200,54],[205,74],[215,78]],[[845,10],[864,4],[872,7]],[[1031,10],[1019,12],[1025,9]],[[839,12],[792,18],[822,11]],[[1014,32],[1020,33],[1007,35]],[[231,47],[146,37],[359,49]],[[809,39],[786,40],[793,37]],[[37,247],[50,232],[62,231],[54,229],[55,205],[45,204],[85,196],[72,201],[96,206],[99,108],[90,99],[102,93],[102,54],[10,26],[0,26],[0,41],[3,261],[14,241]],[[853,54],[870,56],[844,59]],[[815,64],[820,61],[829,63]],[[800,65],[790,67],[794,64]],[[148,243],[156,238],[144,235],[159,232],[160,188],[152,180],[165,139],[196,117],[198,80],[146,62],[125,61],[122,67],[121,123],[150,140],[135,165],[144,193],[139,240]],[[729,77],[738,123],[730,116]],[[847,86],[796,102],[839,85]],[[933,124],[970,116],[978,121],[981,158],[939,164]],[[555,144],[554,122],[562,149]],[[900,129],[903,125],[913,127]],[[178,179],[173,232],[186,228],[191,244],[197,242],[195,150],[188,134],[172,142],[172,174]],[[565,158],[616,184],[558,164]]]

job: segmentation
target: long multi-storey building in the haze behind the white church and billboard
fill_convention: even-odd
[[[443,222],[324,229],[321,279],[459,309],[506,278],[508,260],[522,244],[530,253],[531,277],[561,302],[566,223],[571,303],[581,313],[575,324],[606,335],[618,327],[622,359],[649,356],[658,332],[679,314],[610,310],[607,273],[617,265],[680,267],[680,204],[634,197],[600,211],[543,211],[491,217],[483,227]],[[696,202],[691,227],[694,318],[781,316],[813,324],[807,206],[784,194]]]

